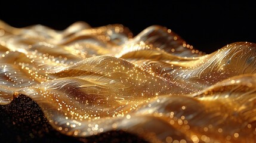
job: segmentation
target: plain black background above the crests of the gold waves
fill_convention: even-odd
[[[1,1],[0,19],[14,27],[43,24],[57,30],[75,21],[92,27],[119,23],[134,35],[158,24],[208,53],[232,42],[256,43],[256,5],[247,1]]]

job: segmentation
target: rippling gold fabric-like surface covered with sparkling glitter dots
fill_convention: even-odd
[[[203,54],[170,29],[56,31],[0,21],[0,104],[23,94],[61,133],[126,130],[150,142],[254,142],[256,45]]]

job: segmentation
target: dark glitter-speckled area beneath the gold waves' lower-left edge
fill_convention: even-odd
[[[0,142],[146,142],[123,131],[88,138],[63,135],[51,127],[38,104],[23,95],[0,105],[0,124]]]

